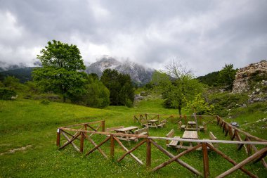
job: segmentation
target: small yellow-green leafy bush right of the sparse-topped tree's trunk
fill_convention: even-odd
[[[204,101],[201,94],[197,94],[192,101],[188,101],[186,109],[193,111],[197,115],[214,115],[214,106]]]

